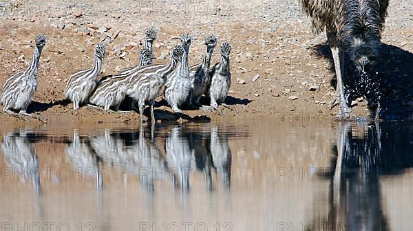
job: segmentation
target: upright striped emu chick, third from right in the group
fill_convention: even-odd
[[[168,75],[164,92],[165,100],[169,106],[171,106],[173,112],[180,112],[178,106],[181,106],[182,103],[187,101],[192,84],[191,79],[189,78],[188,68],[188,53],[189,46],[191,46],[191,36],[183,34],[179,39],[181,40],[181,46],[184,48],[185,52],[182,54],[176,70]]]

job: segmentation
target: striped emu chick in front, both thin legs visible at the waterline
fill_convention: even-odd
[[[153,103],[160,91],[160,88],[165,85],[166,78],[176,68],[182,55],[184,55],[182,46],[175,46],[170,52],[169,63],[167,65],[150,65],[141,67],[142,70],[137,74],[128,77],[126,94],[138,102],[140,123],[142,124],[143,108],[145,102],[149,102],[151,107],[151,121],[155,123],[155,115],[153,114]]]

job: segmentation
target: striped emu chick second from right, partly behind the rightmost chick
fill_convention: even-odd
[[[191,89],[191,103],[195,106],[201,106],[200,98],[202,94],[207,94],[209,83],[211,82],[211,75],[209,67],[213,49],[217,43],[217,38],[213,34],[209,34],[205,39],[205,55],[202,63],[189,68],[192,79]]]

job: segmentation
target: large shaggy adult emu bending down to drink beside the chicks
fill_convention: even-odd
[[[345,94],[343,86],[343,55],[349,54],[358,70],[372,70],[379,56],[381,31],[389,0],[299,1],[304,12],[313,21],[313,30],[326,30],[337,75],[337,91],[330,103],[330,109],[339,103],[338,117],[350,117],[352,110],[347,105],[348,95]]]

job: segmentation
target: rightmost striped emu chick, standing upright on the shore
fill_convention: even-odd
[[[221,61],[211,68],[211,86],[209,86],[209,97],[211,107],[218,108],[218,103],[224,103],[226,95],[231,87],[231,72],[229,70],[229,53],[231,46],[222,42],[220,47]]]

